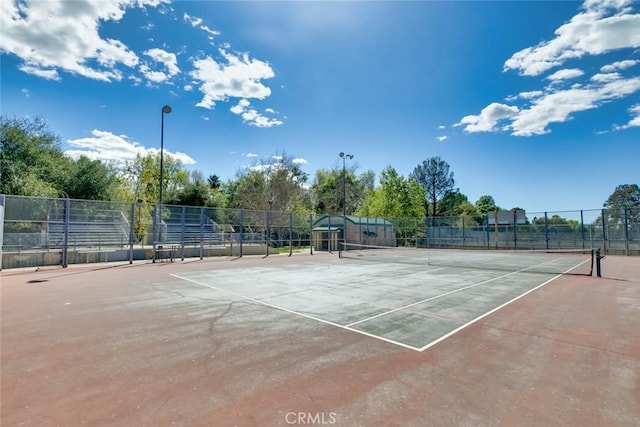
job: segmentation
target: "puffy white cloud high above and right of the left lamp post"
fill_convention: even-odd
[[[204,94],[196,106],[211,109],[216,102],[230,97],[265,99],[271,95],[271,89],[262,84],[263,79],[275,76],[269,64],[251,59],[246,53],[236,56],[224,49],[219,52],[225,63],[211,57],[194,61],[195,69],[190,74]]]

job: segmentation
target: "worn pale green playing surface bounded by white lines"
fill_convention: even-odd
[[[418,351],[557,276],[529,271],[537,260],[511,272],[397,261],[343,258],[174,276],[208,288],[207,297],[219,293]]]

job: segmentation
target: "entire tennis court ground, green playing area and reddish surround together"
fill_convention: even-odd
[[[342,255],[2,272],[2,424],[640,421],[637,258]]]

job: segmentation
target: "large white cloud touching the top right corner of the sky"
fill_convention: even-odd
[[[640,14],[633,13],[633,5],[633,0],[585,1],[583,10],[555,31],[554,39],[516,52],[504,71],[537,76],[570,59],[640,47]]]

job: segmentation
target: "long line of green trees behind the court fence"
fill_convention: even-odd
[[[215,174],[205,178],[200,171],[189,172],[170,155],[163,160],[166,204],[320,214],[346,211],[387,218],[473,218],[504,210],[491,195],[471,202],[455,187],[454,174],[440,157],[424,160],[407,177],[387,166],[379,185],[373,171],[357,174],[357,165],[344,171],[338,166],[320,169],[311,178],[286,153],[256,160],[226,182]],[[153,204],[159,191],[159,154],[139,154],[124,165],[86,156],[71,158],[42,118],[0,117],[0,194]],[[631,219],[640,221],[638,185],[616,187],[603,207],[630,209]],[[622,214],[613,215],[618,216],[612,219],[623,220]],[[553,217],[553,221],[570,220]]]

